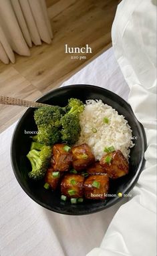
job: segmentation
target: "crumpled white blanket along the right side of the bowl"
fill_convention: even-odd
[[[100,248],[88,256],[156,255],[156,1],[123,0],[112,27],[114,52],[143,124],[146,164],[132,198],[122,205]]]

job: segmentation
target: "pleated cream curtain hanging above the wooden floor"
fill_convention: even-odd
[[[15,54],[29,56],[32,43],[51,43],[45,0],[0,0],[0,60],[15,63]]]

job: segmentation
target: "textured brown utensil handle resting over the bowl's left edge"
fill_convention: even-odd
[[[21,100],[13,97],[8,97],[8,96],[0,96],[0,104],[23,106],[23,107],[29,107],[29,108],[41,108],[43,106],[51,106],[48,104],[31,102],[29,100]]]

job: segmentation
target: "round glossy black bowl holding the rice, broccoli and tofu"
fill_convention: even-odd
[[[104,103],[115,108],[119,114],[125,116],[128,124],[132,128],[132,136],[137,137],[134,140],[135,146],[130,152],[130,172],[128,175],[110,182],[109,194],[118,193],[127,194],[136,184],[140,172],[144,166],[144,151],[146,149],[146,136],[144,128],[138,122],[132,108],[120,96],[109,90],[90,85],[73,85],[58,88],[41,97],[37,102],[44,102],[51,105],[65,106],[69,98],[79,98],[83,102],[88,99],[101,99]],[[31,145],[31,134],[28,131],[35,131],[37,127],[33,120],[33,108],[29,108],[19,120],[11,142],[11,164],[15,176],[29,197],[39,205],[66,215],[86,215],[102,211],[111,207],[120,201],[120,197],[108,197],[105,201],[84,201],[77,205],[71,205],[69,202],[60,200],[60,192],[56,190],[46,190],[43,188],[44,180],[33,181],[28,178],[28,172],[31,169],[29,161],[26,158]],[[122,199],[122,198],[121,198]]]

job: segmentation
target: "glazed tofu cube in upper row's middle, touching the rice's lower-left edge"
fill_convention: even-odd
[[[82,144],[71,148],[73,156],[73,168],[77,171],[86,169],[95,161],[94,154],[88,144]]]

